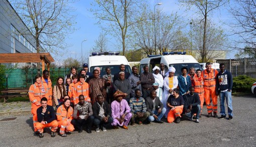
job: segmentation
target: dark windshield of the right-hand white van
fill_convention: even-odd
[[[173,66],[176,69],[175,76],[180,76],[181,75],[181,68],[182,67],[187,67],[188,68],[188,74],[189,74],[189,69],[191,67],[195,68],[195,72],[197,69],[200,69],[201,71],[203,68],[199,63],[179,63],[179,64],[169,64],[169,67]]]

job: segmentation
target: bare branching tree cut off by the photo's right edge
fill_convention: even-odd
[[[256,58],[256,2],[251,0],[236,0],[230,6],[230,14],[233,16],[231,29],[239,37],[236,43],[245,44],[239,48],[239,57],[249,56]]]

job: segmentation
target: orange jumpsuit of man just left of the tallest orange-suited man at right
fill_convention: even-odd
[[[198,78],[197,76],[194,76],[192,79],[192,85],[195,87],[195,92],[198,93],[200,98],[200,106],[201,106],[201,112],[203,109],[204,104],[204,80],[202,77]]]

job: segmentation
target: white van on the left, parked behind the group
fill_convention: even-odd
[[[119,52],[93,52],[88,58],[88,69],[92,73],[94,67],[100,68],[100,76],[106,74],[105,68],[109,67],[111,69],[111,74],[119,72],[120,64],[125,65],[125,71],[132,73],[129,62],[124,56],[120,56]]]

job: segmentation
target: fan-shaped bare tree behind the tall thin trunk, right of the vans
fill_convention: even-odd
[[[207,30],[206,30],[206,40],[205,48],[203,48],[204,41],[204,22],[203,21],[193,21],[192,29],[192,39],[193,39],[193,48],[196,50],[196,55],[199,55],[199,62],[212,62],[214,59],[221,56],[221,51],[226,51],[228,47],[227,35],[224,33],[224,30],[220,26],[212,23],[210,20],[207,20]]]

